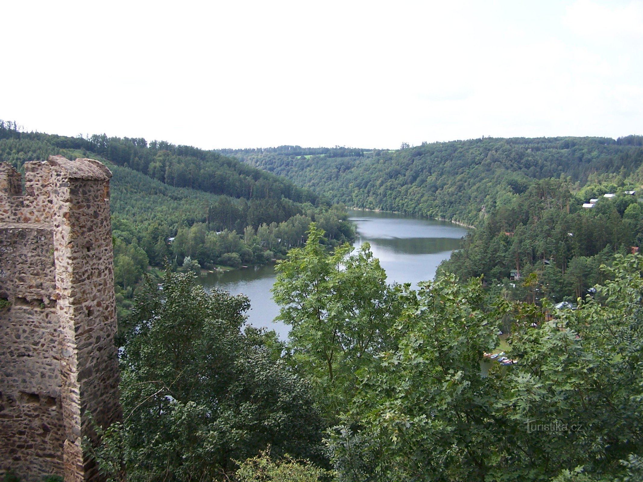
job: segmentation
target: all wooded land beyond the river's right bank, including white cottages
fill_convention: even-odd
[[[605,280],[601,265],[643,246],[643,136],[481,138],[324,153],[226,151],[334,202],[469,229],[439,271],[481,278],[487,292],[508,299],[576,303]]]

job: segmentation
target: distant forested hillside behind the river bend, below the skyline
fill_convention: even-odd
[[[640,174],[642,145],[643,136],[484,138],[357,150],[360,157],[305,155],[299,147],[290,147],[292,154],[288,147],[226,152],[347,206],[476,224],[534,179],[568,177],[577,190],[588,181],[618,184]]]

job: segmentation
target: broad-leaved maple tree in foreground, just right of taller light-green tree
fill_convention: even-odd
[[[494,455],[494,377],[480,376],[498,319],[481,309],[479,280],[453,276],[406,287],[399,345],[361,377],[331,437],[340,480],[475,480]]]

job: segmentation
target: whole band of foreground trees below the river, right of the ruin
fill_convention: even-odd
[[[640,255],[555,310],[453,274],[386,285],[367,245],[329,253],[321,235],[278,266],[288,343],[241,330],[247,299],[186,274],[140,293],[124,419],[91,449],[111,480],[641,480]],[[501,350],[511,362],[489,359]]]

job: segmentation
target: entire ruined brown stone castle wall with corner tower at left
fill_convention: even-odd
[[[100,481],[89,413],[120,418],[111,172],[93,159],[0,163],[0,478]]]

